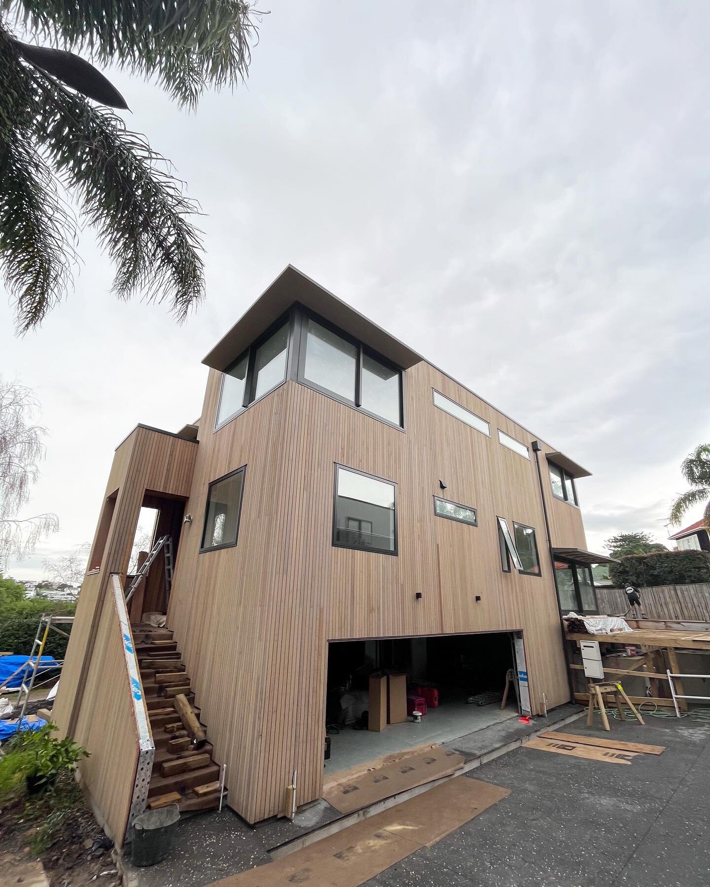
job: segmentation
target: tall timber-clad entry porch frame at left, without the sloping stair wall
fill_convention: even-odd
[[[189,494],[197,449],[193,441],[141,426],[134,428],[116,448],[101,500],[93,546],[97,544],[106,498],[118,491],[114,514],[101,566],[98,571],[89,573],[83,584],[54,707],[60,732],[70,732],[77,742],[83,743],[85,737],[75,728],[89,723],[85,717],[87,713],[82,710],[83,694],[97,640],[99,617],[106,595],[111,593],[110,574],[121,573],[122,582],[125,581],[130,546],[146,490],[178,497]],[[90,700],[87,699],[86,703],[88,705]]]

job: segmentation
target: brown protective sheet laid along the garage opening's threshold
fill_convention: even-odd
[[[461,755],[440,746],[410,755],[395,764],[376,767],[355,779],[331,783],[324,790],[323,797],[335,810],[351,813],[385,797],[449,776],[462,765]]]

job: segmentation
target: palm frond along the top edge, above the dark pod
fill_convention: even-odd
[[[64,48],[156,75],[191,107],[206,86],[246,79],[263,14],[242,0],[0,0],[0,9]]]

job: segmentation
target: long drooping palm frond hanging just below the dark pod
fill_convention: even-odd
[[[177,319],[184,319],[204,289],[200,234],[188,221],[198,207],[144,137],[37,76],[43,101],[34,135],[99,232],[116,266],[114,293],[170,299]]]

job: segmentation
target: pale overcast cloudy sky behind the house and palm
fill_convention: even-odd
[[[287,263],[588,467],[592,550],[665,540],[710,440],[710,4],[269,8],[248,86],[197,114],[112,74],[205,213],[200,309],[116,302],[90,230],[36,334],[0,298],[49,431],[26,513],[61,523],[9,572],[91,540],[116,444],[199,415],[201,357]]]

